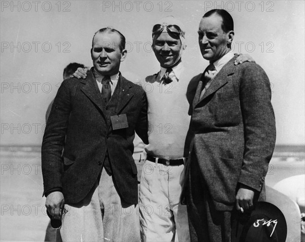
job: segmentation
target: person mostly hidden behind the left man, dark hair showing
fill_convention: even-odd
[[[76,62],[70,63],[68,66],[66,66],[63,73],[63,79],[65,80],[73,76],[73,73],[77,70],[78,67],[84,68],[85,66],[83,64],[79,64]],[[51,103],[48,106],[46,112],[46,122],[48,121],[53,102],[54,99],[51,101]],[[50,222],[46,229],[45,241],[56,241],[56,242],[62,241],[62,238],[60,237],[59,229],[58,232],[56,232],[56,229],[52,228]]]

